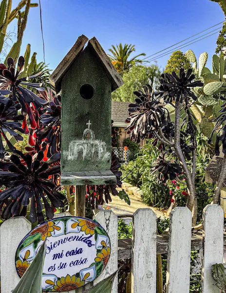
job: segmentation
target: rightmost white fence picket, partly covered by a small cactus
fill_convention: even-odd
[[[220,293],[212,278],[211,266],[222,263],[224,250],[224,212],[219,205],[203,210],[202,293]]]

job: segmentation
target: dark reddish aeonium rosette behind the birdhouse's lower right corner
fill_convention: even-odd
[[[87,185],[86,186],[86,200],[90,202],[92,208],[97,208],[98,205],[104,204],[104,197],[106,203],[111,202],[112,198],[110,193],[113,195],[117,195],[117,187],[122,187],[122,182],[120,177],[122,176],[122,172],[119,171],[121,164],[119,163],[119,159],[116,157],[114,152],[112,151],[112,165],[111,171],[116,176],[116,184],[110,185]]]

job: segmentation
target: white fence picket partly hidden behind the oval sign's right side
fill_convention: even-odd
[[[118,269],[118,218],[112,210],[100,210],[95,215],[95,220],[107,231],[111,241],[111,256],[106,268],[94,280],[94,285],[107,278]],[[112,293],[118,292],[118,278],[114,278]]]

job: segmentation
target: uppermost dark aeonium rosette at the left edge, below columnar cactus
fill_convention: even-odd
[[[19,77],[24,70],[24,63],[24,58],[20,56],[17,71],[15,69],[15,62],[11,57],[7,59],[8,67],[3,63],[0,64],[0,90],[10,90],[9,98],[14,102],[19,102],[21,113],[24,116],[28,114],[30,126],[32,129],[35,129],[36,121],[33,111],[34,109],[37,111],[42,105],[48,104],[48,101],[41,99],[29,89],[30,87],[38,91],[44,90],[44,88],[40,87],[41,84],[28,83],[29,79],[39,76],[41,72],[29,77]]]

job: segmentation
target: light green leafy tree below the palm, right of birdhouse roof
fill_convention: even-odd
[[[139,90],[144,84],[150,84],[152,87],[158,85],[161,72],[157,64],[150,66],[135,65],[123,74],[124,85],[112,93],[113,101],[133,102],[133,92]]]

